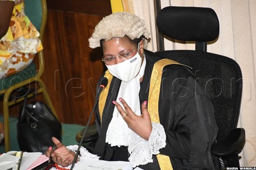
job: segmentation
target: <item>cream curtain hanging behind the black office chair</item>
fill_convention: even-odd
[[[112,0],[115,1],[115,0]],[[117,1],[117,0],[116,0]],[[124,11],[140,16],[151,32],[148,50],[157,51],[154,1],[119,0]],[[161,0],[167,6],[208,7],[216,11],[220,33],[207,51],[230,57],[240,65],[243,74],[243,94],[238,127],[246,131],[246,144],[240,154],[241,166],[256,166],[256,1],[254,0]],[[164,39],[165,50],[194,50],[193,44],[181,44]],[[254,44],[254,45],[253,45]]]

